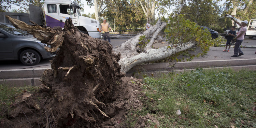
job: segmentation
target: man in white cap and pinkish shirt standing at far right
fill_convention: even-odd
[[[233,19],[232,19],[233,20]],[[242,44],[243,40],[244,40],[244,34],[247,31],[247,24],[248,21],[244,20],[242,21],[242,23],[237,22],[236,20],[234,20],[234,22],[236,22],[237,24],[239,24],[241,26],[240,30],[238,31],[237,37],[234,38],[234,40],[236,41],[236,44],[234,46],[234,55],[232,55],[231,57],[238,57],[238,56],[242,56],[244,55],[243,51],[240,48],[240,45]],[[239,55],[238,55],[239,53]]]

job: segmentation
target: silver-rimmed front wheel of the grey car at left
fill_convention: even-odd
[[[26,66],[37,65],[41,57],[38,52],[27,49],[20,53],[19,60]]]

